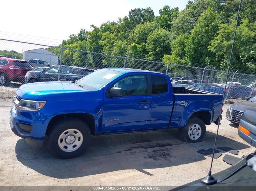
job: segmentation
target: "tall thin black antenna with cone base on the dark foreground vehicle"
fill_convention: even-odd
[[[233,38],[233,43],[232,43],[230,58],[229,58],[229,62],[228,62],[228,72],[227,72],[227,78],[226,78],[226,84],[225,84],[224,92],[225,92],[226,87],[227,87],[228,74],[229,74],[229,69],[230,69],[230,65],[231,65],[231,59],[232,59],[232,53],[233,53],[234,42],[235,42],[235,37],[236,37],[236,29],[237,29],[237,24],[238,24],[238,17],[239,17],[239,12],[240,12],[240,8],[241,8],[241,3],[242,3],[242,0],[240,0],[240,4],[239,4],[239,8],[238,8],[238,14],[237,14],[237,19],[236,19],[236,26],[235,26],[234,38]],[[223,103],[224,103],[224,97],[225,97],[225,94],[224,94],[223,97],[222,97],[221,111],[222,111],[222,107],[223,107]],[[214,151],[215,151],[215,147],[216,147],[216,142],[217,142],[217,137],[218,137],[218,131],[219,131],[219,126],[220,126],[220,120],[221,120],[221,112],[220,112],[220,116],[219,116],[219,120],[218,120],[218,128],[217,128],[216,137],[215,137],[215,142],[214,142],[214,148],[213,148],[213,152],[212,152],[210,170],[209,170],[209,172],[208,172],[208,175],[207,175],[206,177],[204,177],[203,179],[201,179],[201,183],[206,184],[206,185],[212,185],[212,184],[217,183],[217,180],[216,180],[214,177],[211,176],[211,167],[212,167],[213,155],[214,155]]]

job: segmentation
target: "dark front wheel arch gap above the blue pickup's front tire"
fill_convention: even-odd
[[[95,128],[96,128],[97,121],[95,121],[95,117],[90,113],[65,113],[65,114],[56,115],[52,117],[52,119],[49,121],[45,135],[48,135],[54,123],[68,117],[75,117],[77,119],[84,121],[89,126],[91,130],[91,134],[95,135]]]

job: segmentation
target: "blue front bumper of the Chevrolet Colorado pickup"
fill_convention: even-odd
[[[25,138],[25,141],[28,145],[37,148],[37,149],[42,149],[43,143],[44,143],[44,137],[35,137],[33,136],[35,131],[31,132],[26,132],[24,131],[24,129],[21,129],[19,126],[19,123],[23,123],[23,124],[33,124],[31,122],[31,120],[20,117],[15,115],[14,113],[14,107],[11,109],[11,117],[10,117],[10,126],[12,129],[12,132],[21,137],[21,138]],[[34,123],[35,124],[35,123]],[[35,125],[33,124],[33,126],[35,127]]]

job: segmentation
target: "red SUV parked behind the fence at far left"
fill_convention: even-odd
[[[20,81],[24,84],[25,75],[34,68],[25,60],[0,57],[0,85],[9,81]]]

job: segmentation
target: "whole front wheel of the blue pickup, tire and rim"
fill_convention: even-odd
[[[88,125],[77,118],[55,123],[48,133],[48,148],[58,158],[75,158],[85,152],[91,140]]]

